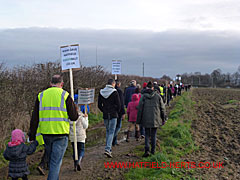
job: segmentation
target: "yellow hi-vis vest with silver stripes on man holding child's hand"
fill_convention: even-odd
[[[66,99],[69,93],[58,87],[39,93],[39,131],[41,134],[69,134]]]

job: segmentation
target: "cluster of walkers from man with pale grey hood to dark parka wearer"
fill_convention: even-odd
[[[115,88],[116,84],[118,84],[117,89]],[[126,141],[129,142],[130,134],[135,129],[137,141],[140,137],[145,137],[143,157],[147,157],[150,153],[155,153],[157,128],[164,125],[167,120],[161,92],[154,88],[155,85],[152,82],[144,83],[141,90],[141,86],[132,80],[130,86],[122,93],[119,89],[120,84],[119,81],[115,82],[115,80],[109,79],[106,87],[100,90],[98,97],[98,108],[103,112],[106,127],[104,154],[111,158],[112,146],[118,144],[117,134],[121,127],[121,121],[124,119],[125,106],[129,122]],[[151,139],[151,150],[149,139]]]

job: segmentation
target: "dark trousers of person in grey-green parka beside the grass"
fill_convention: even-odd
[[[145,152],[149,152],[149,137],[151,136],[151,153],[155,153],[157,128],[145,128]]]

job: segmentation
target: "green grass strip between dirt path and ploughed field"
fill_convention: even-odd
[[[194,118],[193,105],[190,92],[184,93],[181,97],[176,98],[176,104],[169,114],[167,123],[158,129],[157,136],[160,141],[160,152],[142,162],[184,162],[182,158],[198,147],[194,145],[191,136],[191,120]],[[142,155],[140,151],[143,147],[137,147],[135,153]],[[125,174],[126,179],[154,180],[154,179],[194,179],[191,178],[194,169],[188,168],[136,168],[130,169]]]

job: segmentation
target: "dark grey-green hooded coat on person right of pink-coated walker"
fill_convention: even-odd
[[[138,105],[137,124],[145,128],[158,128],[166,120],[166,108],[161,96],[146,89]]]

